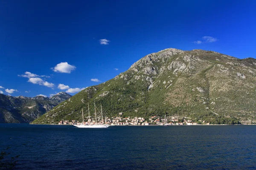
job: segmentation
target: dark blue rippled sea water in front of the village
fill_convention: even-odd
[[[0,124],[0,150],[24,170],[256,169],[256,126]]]

